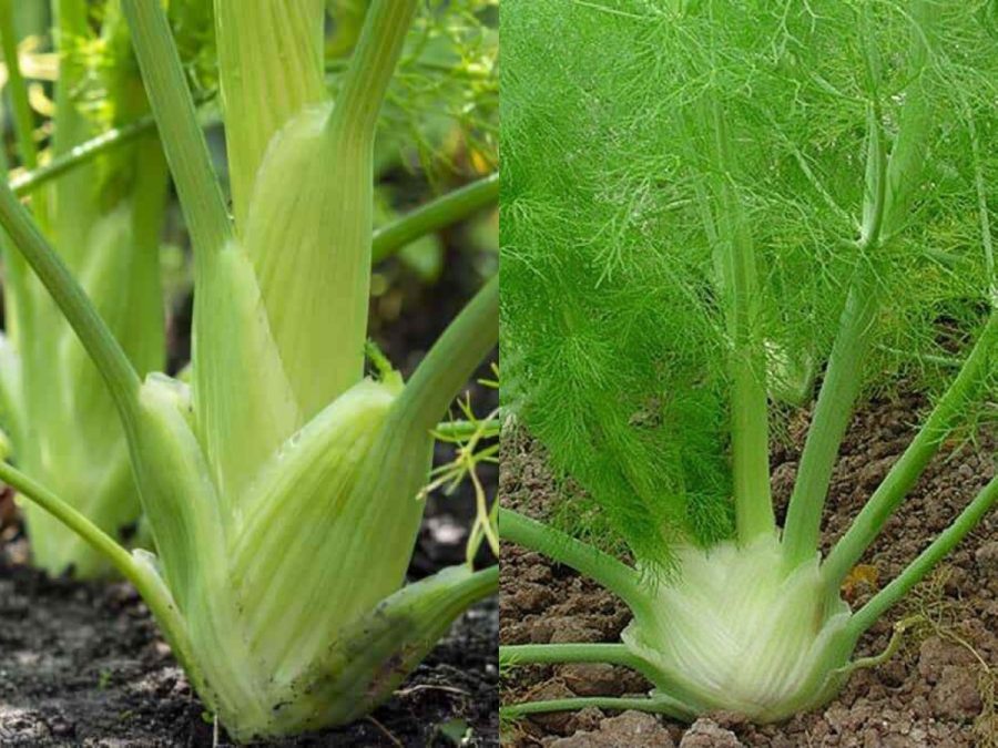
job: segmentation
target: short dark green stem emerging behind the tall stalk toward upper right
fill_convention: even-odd
[[[420,236],[462,221],[499,197],[499,174],[490,174],[416,208],[398,221],[377,229],[371,244],[371,262],[379,263]]]

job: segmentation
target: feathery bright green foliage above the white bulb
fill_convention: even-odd
[[[900,63],[914,32],[902,7],[875,8],[889,136],[910,96]],[[967,125],[972,115],[985,143],[995,127],[994,41],[974,8],[933,10],[946,17],[920,71],[931,158],[904,185],[914,211],[896,235],[863,249],[859,3],[505,7],[503,396],[642,557],[661,554],[663,521],[701,540],[731,533],[712,181],[734,192],[758,253],[771,387],[787,357],[827,359],[864,269],[889,299],[882,348],[857,372],[867,382],[918,365],[938,385],[951,370],[930,357],[979,331],[992,275],[975,173],[995,164],[982,146],[975,163]],[[731,141],[723,166],[705,156],[711,105]]]

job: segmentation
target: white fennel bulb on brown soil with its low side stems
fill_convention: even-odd
[[[998,499],[992,481],[906,570],[853,613],[817,553],[793,566],[775,535],[747,545],[676,552],[670,573],[635,570],[529,518],[501,510],[503,536],[583,571],[617,593],[633,619],[613,644],[500,647],[500,665],[607,663],[641,673],[654,686],[648,698],[556,699],[508,706],[518,717],[585,706],[639,709],[693,719],[734,711],[775,723],[832,700],[860,668],[875,667],[898,648],[909,621],[895,626],[886,649],[854,658],[859,637],[903,592],[917,583]]]

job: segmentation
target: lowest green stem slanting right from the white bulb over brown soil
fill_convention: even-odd
[[[998,477],[990,480],[974,501],[960,512],[954,523],[943,531],[925,551],[919,553],[900,576],[880,590],[873,600],[856,612],[848,624],[853,633],[856,636],[860,635],[873,626],[887,608],[907,595],[912,587],[918,584],[936,564],[956,547],[957,543],[978,525],[996,501],[998,501]]]

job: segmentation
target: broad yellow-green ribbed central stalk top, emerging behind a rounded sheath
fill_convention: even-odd
[[[233,212],[246,221],[271,140],[293,116],[327,98],[323,0],[215,0]]]

